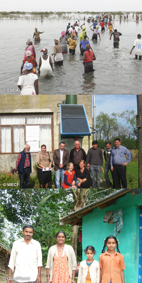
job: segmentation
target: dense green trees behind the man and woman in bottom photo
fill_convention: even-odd
[[[59,218],[67,213],[76,211],[94,201],[94,189],[1,189],[0,227],[8,234],[6,243],[12,246],[15,237],[22,237],[21,228],[25,224],[33,224],[34,239],[42,246],[43,261],[47,260],[47,253],[55,245],[55,235],[58,231],[65,231],[68,244],[72,244],[76,251],[78,225],[60,226]],[[100,193],[103,197],[104,193]],[[97,198],[97,197],[96,197]],[[99,198],[99,196],[98,196]],[[8,225],[4,225],[4,222]],[[14,225],[13,225],[14,224]],[[5,239],[1,233],[1,240]],[[79,256],[81,257],[81,251]]]

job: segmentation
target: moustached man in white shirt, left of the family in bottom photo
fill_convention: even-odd
[[[40,243],[32,239],[33,231],[32,225],[23,226],[22,234],[24,238],[13,243],[8,265],[7,283],[41,283],[42,250]],[[15,272],[12,276],[14,268]]]

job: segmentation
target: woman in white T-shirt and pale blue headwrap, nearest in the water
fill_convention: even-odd
[[[24,68],[26,73],[20,75],[17,83],[20,94],[39,94],[38,76],[32,73],[33,64],[26,61]]]

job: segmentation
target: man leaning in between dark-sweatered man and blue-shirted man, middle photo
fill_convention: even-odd
[[[110,164],[110,161],[111,161],[111,151],[113,149],[113,147],[111,146],[111,143],[108,141],[105,143],[106,147],[104,149],[104,152],[103,152],[103,156],[105,158],[105,161],[106,161],[106,165],[105,165],[105,180],[106,180],[106,183],[108,184],[108,189],[111,187],[112,183],[111,181],[109,180],[109,170],[111,172],[111,176],[112,176],[112,181],[113,181],[113,189],[115,189],[115,183],[114,183],[114,172],[111,170],[111,164]]]

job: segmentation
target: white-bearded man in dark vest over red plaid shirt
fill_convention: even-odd
[[[16,169],[19,172],[20,189],[29,188],[31,173],[31,153],[29,144],[25,144],[25,148],[21,151],[16,160]]]

